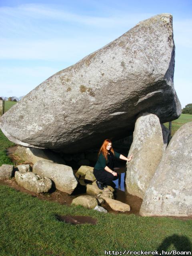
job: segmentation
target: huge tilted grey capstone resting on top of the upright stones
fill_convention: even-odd
[[[170,14],[156,15],[54,74],[0,118],[17,144],[82,152],[124,138],[139,112],[168,122],[181,113],[173,86]]]

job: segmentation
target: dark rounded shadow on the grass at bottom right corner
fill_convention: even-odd
[[[191,242],[186,236],[178,236],[174,234],[165,238],[157,248],[157,251],[159,253],[161,253],[162,250],[166,251],[171,244],[175,246],[177,252],[191,252],[192,250]]]

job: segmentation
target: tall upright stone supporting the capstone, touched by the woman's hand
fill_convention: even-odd
[[[144,197],[148,184],[163,155],[163,136],[159,118],[147,112],[140,114],[135,124],[133,143],[127,163],[126,188],[128,193]]]

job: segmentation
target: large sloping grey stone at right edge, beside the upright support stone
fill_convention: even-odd
[[[174,134],[146,190],[140,215],[192,215],[192,122]]]

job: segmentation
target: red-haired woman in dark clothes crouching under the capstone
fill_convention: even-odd
[[[107,184],[110,184],[112,180],[118,179],[118,174],[114,172],[115,157],[130,162],[130,158],[126,158],[122,154],[115,152],[112,148],[111,140],[104,140],[98,154],[98,160],[93,170],[96,184],[99,189],[106,188]]]

